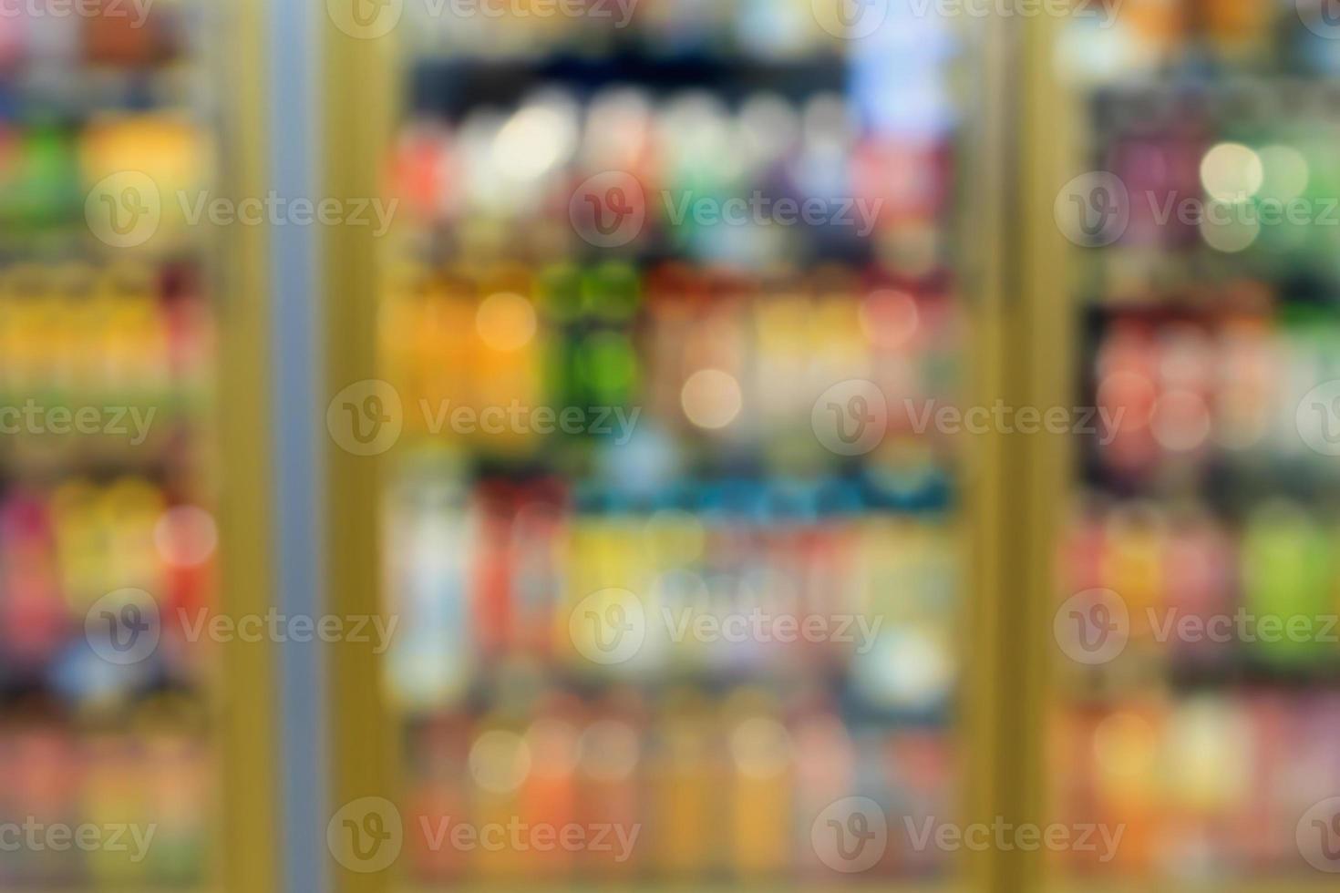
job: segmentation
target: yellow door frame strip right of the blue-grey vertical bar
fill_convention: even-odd
[[[324,7],[324,4],[318,4]],[[324,9],[322,11],[324,13]],[[356,37],[320,15],[324,48],[322,133],[324,195],[348,201],[383,194],[398,92],[393,78],[394,35]],[[347,205],[346,205],[347,206]],[[330,226],[324,252],[324,398],[378,376],[377,331],[381,249],[366,226]],[[324,406],[322,407],[324,410]],[[327,611],[336,616],[377,616],[381,598],[382,489],[378,457],[359,457],[326,439]],[[395,802],[398,734],[382,695],[382,657],[375,643],[342,643],[330,649],[328,716],[330,811],[377,797]],[[339,893],[391,888],[394,866],[359,873],[331,860]]]

